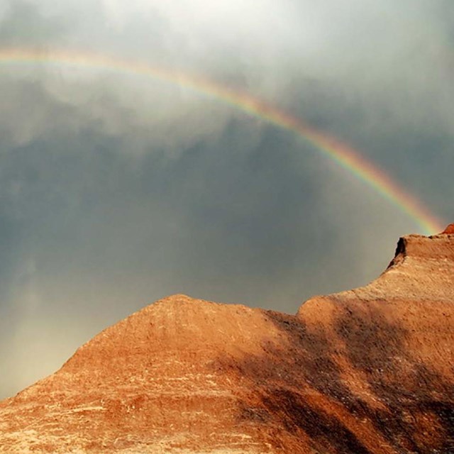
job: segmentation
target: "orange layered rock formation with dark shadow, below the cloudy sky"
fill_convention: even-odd
[[[176,295],[0,403],[0,453],[454,453],[454,237],[297,315]]]

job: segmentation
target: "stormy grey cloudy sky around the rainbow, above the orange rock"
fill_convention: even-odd
[[[0,55],[104,55],[247,94],[353,148],[440,226],[453,31],[450,0],[0,0]],[[399,236],[437,233],[203,87],[0,57],[0,100],[0,398],[161,297],[294,313],[375,279]]]

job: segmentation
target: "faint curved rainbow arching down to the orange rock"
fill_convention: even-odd
[[[0,64],[50,63],[75,65],[77,67],[114,70],[128,74],[140,74],[154,79],[179,84],[196,92],[213,96],[226,104],[235,106],[246,113],[268,121],[275,126],[292,131],[316,148],[322,155],[343,167],[350,175],[375,190],[390,204],[412,218],[423,230],[433,234],[443,230],[440,221],[426,209],[420,201],[396,182],[393,182],[377,165],[372,164],[350,146],[322,133],[304,123],[301,119],[271,106],[249,94],[233,91],[209,79],[182,72],[150,66],[143,62],[121,59],[96,53],[69,50],[23,50],[16,48],[0,49]]]

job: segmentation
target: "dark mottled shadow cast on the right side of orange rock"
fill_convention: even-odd
[[[254,389],[239,396],[239,423],[261,425],[276,448],[288,436],[306,446],[301,453],[454,452],[454,387],[411,357],[402,326],[360,306],[339,307],[329,325],[267,317],[282,343],[264,341],[262,354],[241,362],[219,358]]]

